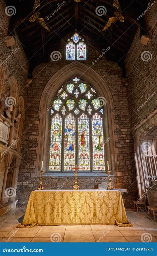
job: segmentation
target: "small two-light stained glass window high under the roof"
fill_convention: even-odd
[[[66,60],[76,59],[86,60],[86,44],[78,33],[75,33],[71,39],[68,38],[66,45]]]

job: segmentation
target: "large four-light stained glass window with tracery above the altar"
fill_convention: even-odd
[[[104,171],[103,108],[91,85],[77,76],[51,105],[49,171]]]

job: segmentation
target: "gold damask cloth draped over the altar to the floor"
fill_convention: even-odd
[[[118,190],[32,191],[24,220],[18,227],[35,225],[118,225],[128,222]]]

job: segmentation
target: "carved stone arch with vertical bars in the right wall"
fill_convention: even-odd
[[[157,178],[157,123],[156,111],[135,127],[135,166],[139,196]]]

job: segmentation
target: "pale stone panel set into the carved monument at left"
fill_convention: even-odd
[[[0,143],[8,145],[11,120],[0,115]]]

